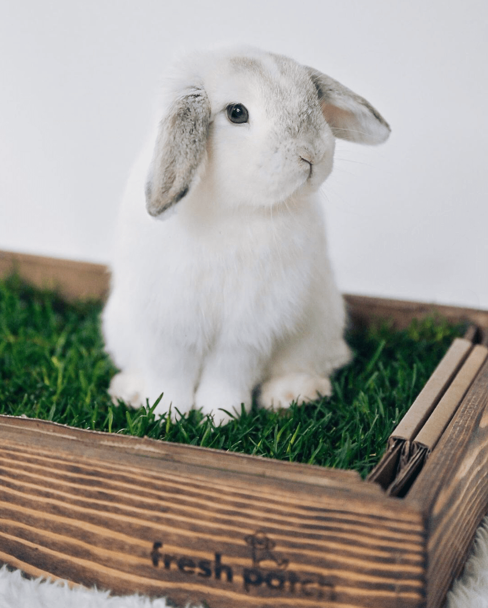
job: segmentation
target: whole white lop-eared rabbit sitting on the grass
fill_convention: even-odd
[[[264,407],[330,395],[350,355],[318,188],[335,137],[380,143],[388,124],[332,78],[249,47],[190,55],[166,93],[120,210],[111,396],[163,393],[156,413],[225,422],[256,388]]]

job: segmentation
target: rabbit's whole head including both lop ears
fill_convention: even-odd
[[[272,207],[319,187],[335,137],[374,144],[389,135],[364,98],[282,55],[213,51],[176,70],[146,186],[152,216],[197,184],[230,206]]]

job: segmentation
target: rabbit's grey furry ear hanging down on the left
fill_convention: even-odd
[[[189,191],[206,153],[210,102],[204,89],[189,88],[159,123],[146,183],[146,209],[160,215]]]

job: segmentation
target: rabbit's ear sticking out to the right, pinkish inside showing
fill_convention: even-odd
[[[371,144],[388,139],[388,123],[364,97],[313,67],[307,70],[317,89],[324,117],[336,137]]]

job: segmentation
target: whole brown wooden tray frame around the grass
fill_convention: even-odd
[[[103,297],[108,285],[104,266],[0,252],[0,275],[14,266],[69,298]],[[346,300],[355,323],[404,326],[438,311],[481,328],[451,347],[374,482],[0,416],[0,561],[215,608],[440,607],[488,510],[488,362],[470,341],[483,342],[488,312]],[[434,414],[437,440],[393,496]]]

